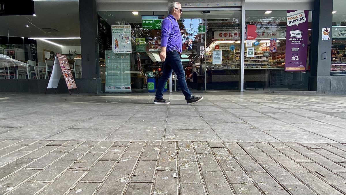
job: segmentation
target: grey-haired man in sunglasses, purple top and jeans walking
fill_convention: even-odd
[[[161,78],[158,79],[158,86],[156,90],[154,104],[170,104],[170,101],[163,99],[164,86],[167,80],[172,75],[174,70],[178,83],[181,86],[181,91],[185,96],[188,105],[197,103],[203,97],[195,97],[189,91],[188,85],[185,80],[185,71],[183,64],[180,60],[182,52],[182,38],[180,28],[177,20],[180,19],[182,14],[181,5],[178,2],[173,2],[169,5],[169,15],[162,21],[162,35],[161,35],[161,53],[160,58],[164,62],[164,68]]]

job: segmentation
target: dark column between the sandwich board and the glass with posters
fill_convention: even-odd
[[[81,31],[82,79],[87,79],[88,82],[85,83],[88,83],[88,85],[90,85],[90,82],[92,83],[94,93],[101,93],[95,0],[79,1],[79,23]]]

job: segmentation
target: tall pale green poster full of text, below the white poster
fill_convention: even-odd
[[[130,55],[106,50],[106,92],[131,92]]]

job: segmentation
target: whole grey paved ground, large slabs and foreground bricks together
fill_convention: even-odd
[[[345,96],[0,94],[0,194],[346,194]]]

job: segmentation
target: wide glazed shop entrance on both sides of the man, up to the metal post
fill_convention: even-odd
[[[181,60],[191,91],[239,91],[241,11],[183,8]],[[162,75],[160,21],[166,11],[99,11],[99,56],[105,92],[155,92]],[[148,23],[149,21],[150,23]],[[156,24],[157,25],[151,25]],[[167,83],[167,92],[180,91]]]

